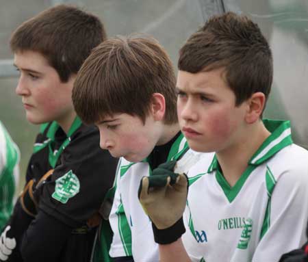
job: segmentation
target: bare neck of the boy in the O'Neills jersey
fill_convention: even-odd
[[[248,167],[249,159],[270,135],[270,132],[260,120],[248,126],[245,134],[246,136],[241,136],[235,144],[216,153],[222,174],[231,187],[240,179]]]

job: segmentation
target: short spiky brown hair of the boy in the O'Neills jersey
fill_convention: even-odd
[[[213,16],[179,51],[179,70],[189,73],[224,68],[224,79],[240,105],[255,92],[268,98],[272,53],[257,24],[232,12]]]

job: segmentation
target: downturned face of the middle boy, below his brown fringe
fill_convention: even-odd
[[[124,157],[132,162],[147,157],[159,138],[154,120],[149,116],[143,124],[138,116],[115,114],[97,123],[97,127],[101,148],[109,150],[113,157]]]

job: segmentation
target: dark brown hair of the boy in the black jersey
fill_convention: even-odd
[[[56,5],[21,24],[12,34],[10,47],[14,53],[41,53],[66,82],[105,38],[97,16],[73,5]]]

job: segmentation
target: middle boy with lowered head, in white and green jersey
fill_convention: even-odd
[[[194,154],[179,130],[176,101],[172,64],[153,38],[104,41],[77,75],[73,89],[77,114],[97,125],[101,148],[122,157],[110,213],[113,261],[159,260],[138,187],[142,176],[151,175],[160,163]],[[97,241],[94,261],[105,250],[104,242]]]

